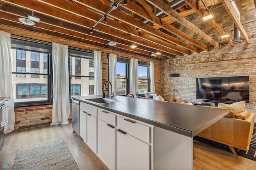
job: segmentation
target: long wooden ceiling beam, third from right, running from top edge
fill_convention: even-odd
[[[192,24],[190,21],[186,20],[182,15],[180,15],[178,12],[176,12],[174,9],[170,8],[167,4],[161,3],[160,0],[146,0],[153,6],[156,6],[156,8],[162,10],[166,15],[173,17],[177,22],[182,24],[184,27],[186,27],[188,30],[194,32],[196,35],[202,37],[204,40],[208,41],[218,49],[220,49],[220,44],[210,38],[207,34],[205,34],[202,30],[197,28],[194,24]]]

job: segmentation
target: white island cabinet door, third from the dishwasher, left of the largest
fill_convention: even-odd
[[[98,119],[98,156],[110,170],[115,168],[116,127]]]

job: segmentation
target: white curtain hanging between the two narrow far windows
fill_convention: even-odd
[[[138,59],[130,60],[130,93],[136,95],[138,91]]]

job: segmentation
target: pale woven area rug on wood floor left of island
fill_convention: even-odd
[[[19,148],[13,170],[79,170],[62,138]]]

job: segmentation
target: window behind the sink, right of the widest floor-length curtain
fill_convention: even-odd
[[[72,96],[94,95],[94,53],[82,49],[68,49],[70,100]]]

